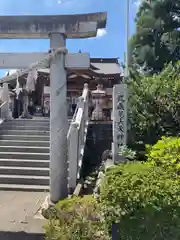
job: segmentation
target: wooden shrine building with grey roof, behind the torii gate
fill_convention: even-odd
[[[32,115],[42,113],[43,116],[49,116],[50,113],[50,70],[38,69],[38,78],[35,85],[35,91],[29,95],[30,105],[33,106]],[[10,70],[8,75],[14,73]],[[84,84],[87,83],[90,91],[97,89],[100,85],[105,92],[105,101],[103,111],[107,118],[111,118],[112,111],[112,90],[115,84],[122,81],[122,70],[118,63],[118,58],[90,58],[90,68],[88,70],[67,71],[67,104],[68,115],[72,116],[76,108],[78,97],[82,93]],[[19,82],[24,82],[27,75],[19,77]],[[16,99],[13,94],[16,87],[16,79],[9,84],[11,92],[12,116],[18,118],[22,113],[22,99]]]

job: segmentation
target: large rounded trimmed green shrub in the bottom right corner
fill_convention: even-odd
[[[180,185],[177,174],[142,163],[106,172],[101,185],[103,220],[121,240],[180,239]]]

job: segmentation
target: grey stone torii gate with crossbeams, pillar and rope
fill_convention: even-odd
[[[107,14],[104,12],[58,16],[0,16],[0,39],[50,39],[50,56],[47,53],[1,53],[0,68],[27,68],[18,72],[20,76],[33,68],[50,67],[52,202],[68,195],[66,68],[83,69],[90,66],[88,54],[67,54],[66,39],[95,37],[98,29],[105,28],[106,20]],[[37,60],[40,61],[36,62]],[[36,63],[30,65],[33,62]],[[6,83],[14,78],[15,76],[10,75],[4,77],[2,82]]]

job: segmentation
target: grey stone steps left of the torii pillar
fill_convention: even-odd
[[[0,190],[49,191],[49,119],[0,125]]]

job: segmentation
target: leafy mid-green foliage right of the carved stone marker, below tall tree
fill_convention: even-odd
[[[180,127],[180,63],[129,83],[129,142],[155,144]]]

